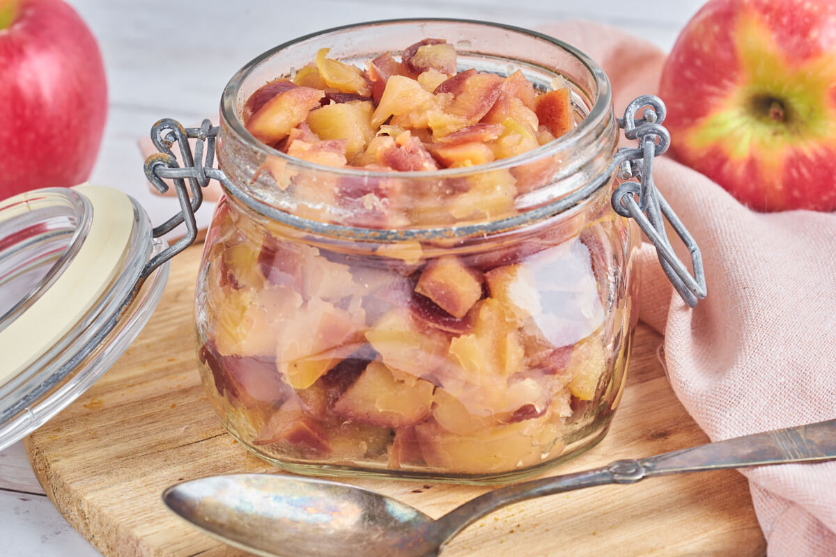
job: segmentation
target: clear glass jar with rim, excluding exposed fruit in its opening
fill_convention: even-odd
[[[386,173],[294,159],[242,124],[250,94],[319,48],[363,63],[424,38],[455,44],[460,68],[565,82],[577,127],[487,165]],[[638,315],[640,238],[610,203],[618,134],[594,61],[492,23],[364,23],[248,63],[222,96],[226,196],[196,291],[223,426],[294,473],[475,483],[599,442]]]

